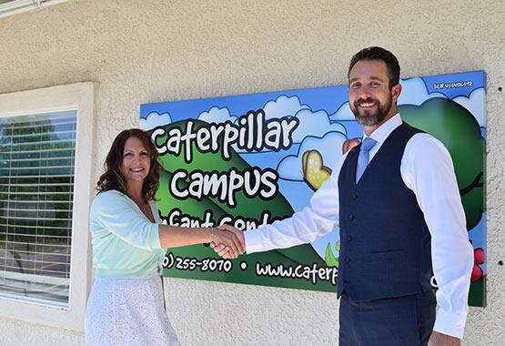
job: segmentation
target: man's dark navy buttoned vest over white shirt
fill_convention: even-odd
[[[431,237],[400,174],[405,146],[419,132],[406,123],[391,132],[358,184],[360,146],[348,153],[338,176],[338,296],[346,290],[366,301],[431,290]]]

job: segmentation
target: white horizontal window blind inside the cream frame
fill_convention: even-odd
[[[0,118],[0,295],[67,306],[76,111]]]

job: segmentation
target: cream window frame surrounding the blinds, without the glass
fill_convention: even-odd
[[[88,219],[92,194],[94,195],[94,184],[91,179],[94,85],[76,83],[0,95],[0,117],[66,110],[76,110],[77,113],[68,307],[61,308],[50,304],[0,297],[0,318],[83,331],[86,299],[91,284]]]

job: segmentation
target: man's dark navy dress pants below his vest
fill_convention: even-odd
[[[344,292],[340,297],[338,345],[427,345],[435,308],[431,291],[364,302],[353,301]]]

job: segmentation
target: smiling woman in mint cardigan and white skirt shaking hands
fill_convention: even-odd
[[[121,132],[106,157],[90,210],[95,282],[86,308],[88,345],[178,345],[157,274],[166,248],[223,243],[237,257],[232,232],[160,225],[154,194],[157,150],[146,132]]]

